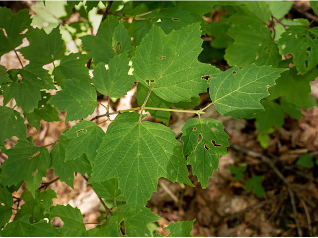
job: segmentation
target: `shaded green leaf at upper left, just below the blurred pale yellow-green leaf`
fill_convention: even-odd
[[[61,57],[64,42],[58,27],[50,34],[38,28],[30,28],[29,31],[27,39],[30,46],[19,50],[25,59],[30,60],[32,64],[44,65]]]

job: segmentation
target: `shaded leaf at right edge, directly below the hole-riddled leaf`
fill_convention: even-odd
[[[283,62],[281,67],[288,67],[290,60]],[[314,68],[305,75],[300,75],[295,67],[282,73],[276,80],[276,85],[270,89],[270,95],[276,99],[279,96],[285,96],[286,99],[296,105],[305,107],[308,101],[308,95],[311,93],[310,82],[315,80],[318,75],[318,69]]]

